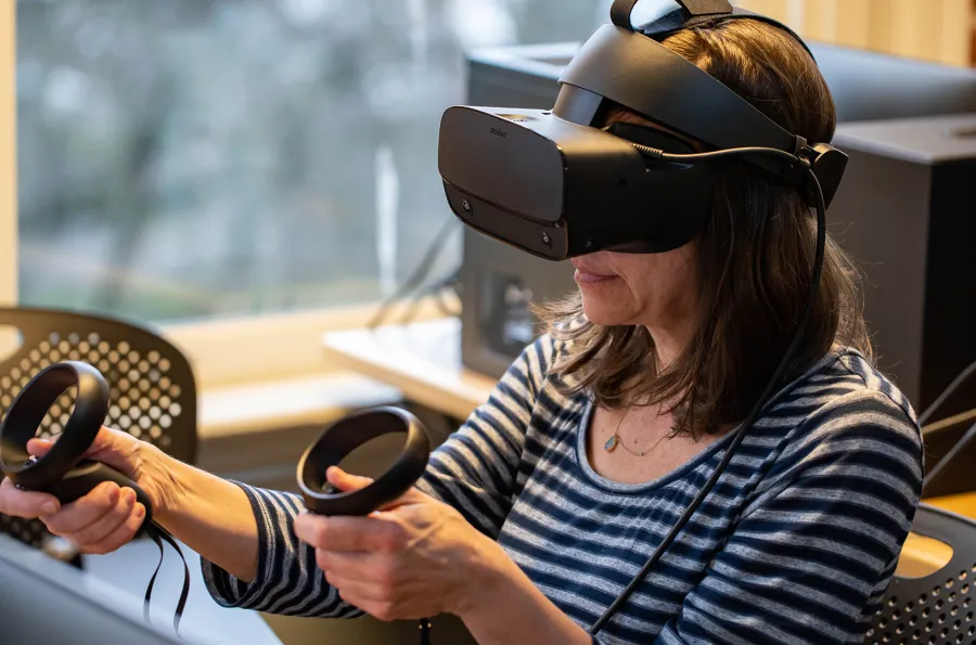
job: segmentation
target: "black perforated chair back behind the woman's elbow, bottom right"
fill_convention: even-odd
[[[976,521],[920,504],[912,531],[945,542],[952,547],[952,557],[942,568],[922,578],[896,576],[864,643],[976,643]]]

